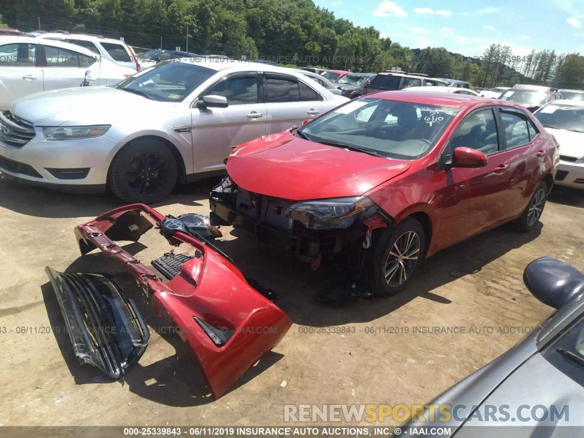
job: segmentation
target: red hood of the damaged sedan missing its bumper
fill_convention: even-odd
[[[256,138],[232,154],[227,173],[238,186],[296,201],[360,196],[410,166],[409,161],[347,151],[288,132]]]

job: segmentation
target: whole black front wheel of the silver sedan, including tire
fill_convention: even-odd
[[[161,141],[138,138],[114,157],[107,185],[127,203],[151,204],[172,192],[177,177],[178,165],[171,150]]]

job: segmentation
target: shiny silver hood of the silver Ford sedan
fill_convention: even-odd
[[[83,126],[111,124],[156,103],[109,86],[79,86],[25,96],[12,103],[11,112],[36,126]]]

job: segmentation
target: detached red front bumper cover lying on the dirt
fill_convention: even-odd
[[[116,240],[138,241],[163,219],[144,204],[132,204],[78,225],[75,237],[82,254],[99,248],[127,267],[151,296],[154,311],[180,328],[211,392],[219,398],[280,342],[292,322],[249,286],[232,263],[189,234],[177,231],[168,238],[172,245],[180,245],[179,252],[194,251],[196,256],[183,263],[180,273],[167,283],[116,244]],[[216,345],[195,318],[230,338]]]

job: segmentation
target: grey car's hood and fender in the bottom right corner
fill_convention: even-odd
[[[564,308],[554,312],[550,318],[534,328],[522,342],[450,387],[429,404],[478,406],[479,411],[485,405],[509,405],[508,411],[511,416],[519,406],[524,404],[544,405],[548,408],[551,405],[569,405],[570,411],[573,412],[573,419],[576,416],[575,413],[584,411],[584,388],[552,366],[544,358],[543,353],[569,325],[578,321],[583,313],[584,296],[580,296]],[[552,425],[537,422],[534,419],[522,423],[478,422],[477,419],[470,418],[471,414],[471,409],[467,409],[458,415],[464,418],[464,421],[450,418],[449,421],[444,422],[434,417],[434,421],[430,422],[427,410],[423,414],[425,421],[418,419],[415,422],[408,422],[401,428],[401,431],[402,434],[411,434],[412,430],[408,430],[408,428],[419,429],[419,427],[423,427],[426,431],[423,436],[427,438],[454,435],[457,438],[477,436],[498,438],[503,436],[503,429],[499,429],[499,427],[507,426],[506,432],[511,433],[508,436],[527,438],[539,436],[534,433],[537,433],[537,429],[541,426],[566,425],[561,421]],[[578,425],[582,426],[584,423]],[[444,428],[450,428],[450,435],[443,433]],[[405,430],[408,430],[409,433]],[[436,434],[433,434],[432,430]],[[557,433],[545,434],[545,436],[550,438],[570,436],[569,434],[560,434],[561,431],[558,430]]]

